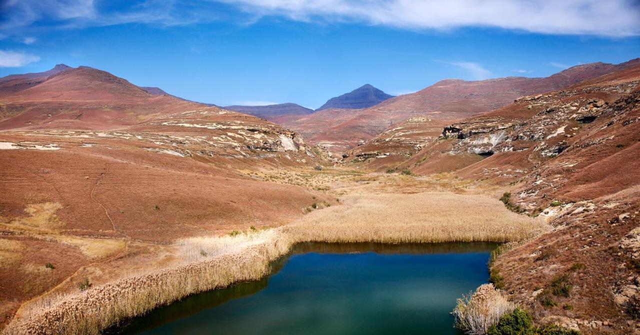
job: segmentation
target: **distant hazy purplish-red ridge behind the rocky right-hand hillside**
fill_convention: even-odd
[[[459,120],[507,105],[513,99],[557,90],[575,82],[629,66],[591,63],[573,66],[546,78],[506,77],[485,81],[445,79],[416,93],[390,98],[365,109],[326,109],[284,125],[301,132],[307,141],[340,151],[353,148],[411,116],[432,120]]]

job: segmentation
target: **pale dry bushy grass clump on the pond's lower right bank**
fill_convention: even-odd
[[[467,334],[484,335],[489,327],[498,323],[500,317],[516,308],[493,284],[479,286],[475,293],[458,299],[452,314],[456,318],[456,327]]]

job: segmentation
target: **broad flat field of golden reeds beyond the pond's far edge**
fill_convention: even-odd
[[[548,230],[484,196],[449,192],[360,194],[308,214],[292,235],[318,242],[511,242]]]

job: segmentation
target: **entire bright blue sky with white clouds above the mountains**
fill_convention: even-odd
[[[316,108],[365,83],[397,95],[640,57],[634,1],[425,3],[0,0],[0,76],[87,65],[200,102]]]

